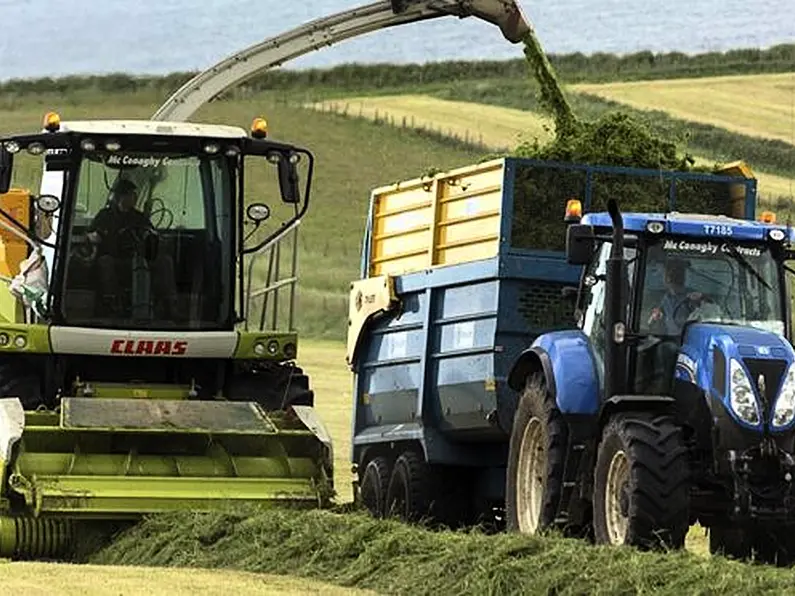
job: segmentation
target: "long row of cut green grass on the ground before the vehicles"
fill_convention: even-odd
[[[791,571],[558,537],[432,532],[364,514],[175,513],[126,530],[91,563],[222,568],[389,594],[764,594]]]

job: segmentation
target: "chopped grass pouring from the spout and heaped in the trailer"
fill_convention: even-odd
[[[644,121],[616,111],[593,121],[582,121],[573,112],[557,75],[534,31],[524,40],[525,57],[539,88],[538,103],[555,122],[555,135],[545,143],[524,142],[512,153],[540,161],[642,168],[654,171],[715,172],[718,165],[694,168],[694,159],[680,152],[674,140],[655,135]],[[521,168],[514,183],[512,244],[539,250],[563,250],[566,201],[584,199],[590,186],[587,207],[604,209],[616,198],[623,211],[666,212],[673,207],[668,180],[659,176],[597,174],[590,184],[581,172],[543,167]],[[676,182],[678,211],[731,215],[731,191],[725,183]]]

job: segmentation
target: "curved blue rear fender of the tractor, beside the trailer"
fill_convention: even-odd
[[[524,388],[533,372],[543,372],[558,409],[566,414],[596,415],[601,391],[588,337],[579,330],[556,331],[539,336],[511,367],[508,386]]]

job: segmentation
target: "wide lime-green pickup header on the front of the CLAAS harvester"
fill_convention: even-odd
[[[16,399],[0,412],[18,412]],[[322,507],[332,494],[327,433],[257,404],[63,398],[0,438],[9,514],[126,519],[229,504]],[[320,428],[320,430],[318,430]],[[16,438],[15,438],[16,437]],[[8,439],[8,440],[7,440]]]

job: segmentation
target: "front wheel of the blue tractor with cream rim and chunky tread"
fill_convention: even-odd
[[[624,413],[602,433],[594,477],[594,532],[600,544],[679,549],[690,528],[690,473],[671,416]]]

